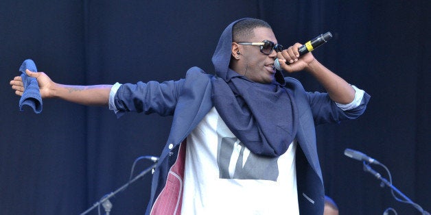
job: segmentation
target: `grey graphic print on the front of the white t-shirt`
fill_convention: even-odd
[[[219,126],[222,123],[221,126]],[[279,168],[278,157],[255,155],[235,137],[226,137],[232,133],[224,132],[227,128],[221,118],[218,119],[217,164],[220,179],[260,179],[277,181]]]

